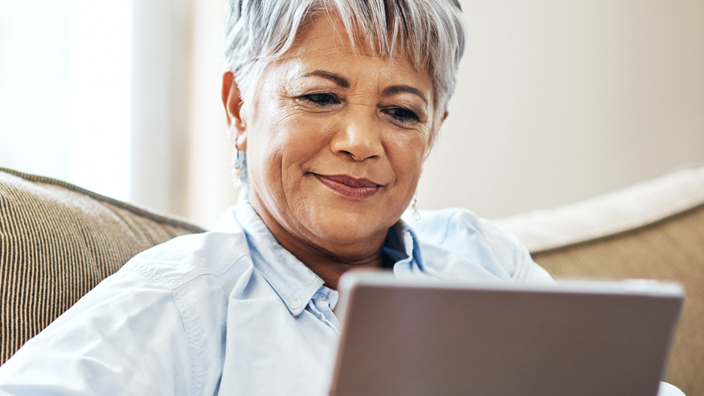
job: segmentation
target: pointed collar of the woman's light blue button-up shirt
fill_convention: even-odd
[[[279,295],[291,314],[298,316],[314,296],[326,297],[334,308],[337,292],[324,286],[315,272],[298,260],[274,238],[264,221],[252,208],[245,186],[237,205],[228,209],[216,228],[227,231],[244,229],[255,268]],[[384,253],[392,258],[394,273],[424,272],[415,232],[403,220],[389,228]],[[316,294],[317,293],[317,294]]]

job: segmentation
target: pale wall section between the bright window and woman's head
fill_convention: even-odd
[[[224,5],[133,2],[131,200],[207,228],[237,201],[220,100]]]

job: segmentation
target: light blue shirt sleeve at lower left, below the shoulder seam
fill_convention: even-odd
[[[189,340],[167,288],[120,271],[0,367],[0,395],[176,395]]]

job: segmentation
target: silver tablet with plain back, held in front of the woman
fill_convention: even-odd
[[[350,272],[331,394],[652,395],[682,288],[399,280]]]

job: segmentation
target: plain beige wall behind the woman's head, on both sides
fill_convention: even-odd
[[[704,1],[462,0],[469,42],[422,208],[553,207],[704,163]],[[235,201],[220,104],[223,1],[193,1],[186,203]]]

